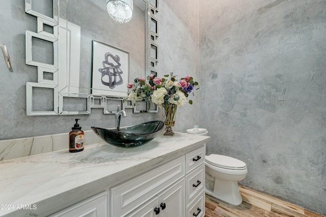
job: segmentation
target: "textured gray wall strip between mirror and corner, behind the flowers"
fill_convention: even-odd
[[[159,0],[158,5],[158,70],[160,75],[174,72],[182,76],[193,76],[199,81],[199,1]],[[201,88],[201,84],[200,88]],[[200,90],[200,89],[199,89]],[[178,132],[186,132],[199,124],[200,92],[189,95],[193,105],[178,108],[176,125]]]

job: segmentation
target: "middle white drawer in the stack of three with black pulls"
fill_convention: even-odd
[[[186,204],[191,203],[205,189],[205,165],[202,164],[185,178]]]

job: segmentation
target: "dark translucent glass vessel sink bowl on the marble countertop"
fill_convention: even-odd
[[[134,147],[144,145],[155,138],[164,127],[164,122],[153,120],[117,129],[91,127],[92,130],[105,142],[118,147]]]

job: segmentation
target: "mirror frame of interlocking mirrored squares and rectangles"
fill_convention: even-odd
[[[105,1],[105,0],[103,0]],[[134,0],[135,1],[135,0]],[[137,1],[137,0],[136,0]],[[158,0],[139,0],[146,4],[146,15],[145,15],[145,77],[150,74],[158,75],[157,64],[158,64],[158,26],[156,15],[158,13]],[[60,43],[62,42],[59,37],[59,7],[60,0],[52,0],[53,14],[52,17],[48,17],[37,11],[32,10],[33,0],[25,0],[25,13],[31,14],[37,17],[37,33],[25,30],[26,40],[26,65],[36,66],[38,70],[37,82],[26,82],[26,115],[75,115],[75,114],[90,114],[91,108],[103,108],[103,114],[114,114],[115,111],[107,110],[107,103],[118,104],[122,109],[133,109],[133,113],[157,113],[158,107],[147,103],[145,101],[138,101],[139,103],[145,104],[145,110],[137,109],[137,105],[132,105],[131,100],[124,97],[116,96],[104,96],[104,95],[92,95],[92,94],[78,94],[75,92],[61,91],[67,85],[67,80],[62,78],[68,78],[69,72],[63,70],[60,72],[60,58],[63,54],[60,50]],[[44,24],[53,27],[53,34],[45,32],[43,30]],[[64,27],[63,27],[64,28]],[[66,26],[67,29],[67,26]],[[32,55],[32,40],[38,38],[53,44],[53,64],[40,63],[33,60]],[[61,46],[60,46],[61,47]],[[67,51],[67,50],[66,50]],[[65,61],[66,62],[66,61]],[[64,66],[65,67],[65,64]],[[67,68],[67,67],[66,67]],[[44,72],[52,74],[52,80],[44,78]],[[60,76],[59,76],[60,75]],[[50,88],[53,89],[53,110],[51,111],[35,111],[33,110],[33,87]],[[76,87],[75,87],[76,88]],[[64,110],[64,98],[82,98],[86,100],[87,108],[85,111],[65,111]],[[143,106],[142,106],[143,107]],[[154,109],[153,109],[154,108]]]

